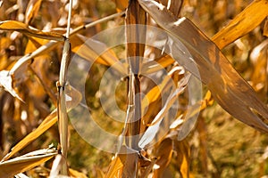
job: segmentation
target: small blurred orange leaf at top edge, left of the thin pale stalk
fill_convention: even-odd
[[[39,11],[42,0],[30,0],[25,12],[25,23],[29,24]]]

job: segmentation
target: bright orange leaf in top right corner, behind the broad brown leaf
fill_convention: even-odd
[[[230,23],[222,28],[212,40],[220,49],[256,28],[268,16],[268,1],[255,0]]]

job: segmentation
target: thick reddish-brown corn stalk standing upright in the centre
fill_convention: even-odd
[[[138,150],[138,134],[140,130],[141,99],[140,99],[140,66],[145,51],[146,12],[137,0],[130,0],[126,12],[127,60],[130,67],[129,105],[134,105],[134,114],[129,121],[129,146]]]

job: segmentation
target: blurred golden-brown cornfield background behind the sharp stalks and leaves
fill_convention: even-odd
[[[32,1],[34,2],[34,1]],[[30,26],[42,30],[64,31],[67,24],[68,2],[66,0],[43,0],[34,18],[28,18]],[[252,1],[245,0],[185,0],[181,8],[181,16],[193,20],[197,27],[207,36],[214,36],[222,27],[232,20]],[[0,1],[0,20],[19,20],[25,22],[29,1]],[[75,0],[71,28],[101,19],[117,12],[112,0]],[[88,28],[83,36],[93,36],[105,28],[113,28],[123,24],[123,18],[106,21]],[[235,69],[239,71],[258,93],[262,101],[267,102],[267,37],[263,36],[264,22],[246,36],[225,47],[222,52],[227,56]],[[10,69],[13,63],[27,50],[28,38],[18,32],[0,31],[0,70]],[[266,45],[264,45],[266,43]],[[262,46],[263,44],[263,46]],[[38,44],[37,44],[38,45]],[[21,77],[17,89],[25,103],[14,99],[12,95],[0,89],[0,158],[29,134],[54,109],[54,101],[44,91],[40,78],[45,81],[47,90],[56,93],[55,81],[59,73],[62,45],[58,45],[50,53],[39,56],[32,61],[25,76]],[[28,52],[29,52],[28,51]],[[123,48],[114,50],[120,58]],[[105,115],[97,97],[100,79],[107,67],[95,64],[88,73],[86,96],[92,115],[99,125],[114,134],[120,134],[122,124],[116,123]],[[94,73],[91,76],[90,73]],[[38,77],[40,78],[38,78]],[[21,85],[23,84],[23,85]],[[117,88],[117,102],[121,109],[126,109],[126,82],[121,81]],[[253,128],[230,117],[216,103],[208,107],[197,121],[195,130],[188,135],[190,146],[190,174],[195,177],[262,177],[268,176],[268,139]],[[80,170],[89,177],[101,177],[111,162],[113,154],[96,150],[89,145],[70,125],[70,150],[68,160],[71,168]],[[21,154],[46,148],[50,143],[57,144],[57,126],[54,125],[46,134],[38,137]],[[105,141],[104,141],[105,142]],[[33,177],[48,174],[44,166],[28,172]],[[180,177],[178,164],[172,163],[164,172],[164,177]]]

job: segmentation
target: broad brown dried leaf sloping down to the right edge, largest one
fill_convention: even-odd
[[[267,133],[268,126],[262,120],[268,118],[267,107],[252,87],[233,69],[219,48],[190,20],[178,20],[162,4],[148,0],[139,0],[139,3],[158,25],[172,34],[169,46],[173,58],[195,76],[198,77],[198,72],[200,73],[200,79],[208,85],[215,101],[233,117]],[[180,40],[178,43],[187,48],[181,49],[181,45],[176,45],[176,40]],[[186,53],[190,53],[194,59],[188,58]]]

